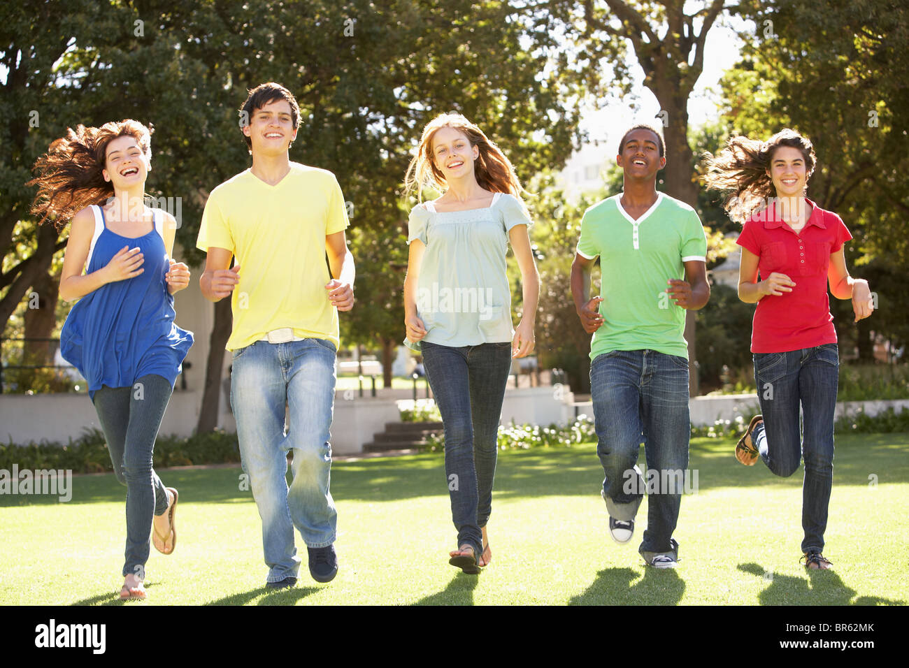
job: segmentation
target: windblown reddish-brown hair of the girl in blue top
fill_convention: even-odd
[[[66,128],[66,135],[56,139],[35,161],[32,169],[37,175],[26,184],[38,186],[31,208],[38,224],[50,220],[62,229],[86,206],[102,204],[114,196],[114,184],[105,181],[102,174],[107,145],[117,137],[134,137],[145,159],[151,161],[152,132],[132,119],[101,127]]]

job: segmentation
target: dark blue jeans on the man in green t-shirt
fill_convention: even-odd
[[[634,472],[642,442],[648,473],[663,480],[688,468],[688,360],[654,350],[614,350],[594,359],[590,388],[606,508],[616,520],[633,520],[644,498]],[[669,552],[682,490],[654,491],[639,551]]]

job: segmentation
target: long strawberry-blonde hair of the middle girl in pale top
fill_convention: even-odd
[[[514,174],[514,166],[499,147],[484,135],[483,130],[460,114],[437,115],[423,128],[423,136],[420,137],[416,155],[407,166],[405,194],[416,191],[418,199],[422,202],[425,187],[432,187],[440,192],[447,190],[445,175],[435,166],[433,159],[433,136],[435,131],[442,127],[451,127],[464,133],[471,147],[476,146],[480,150],[480,155],[474,160],[474,176],[480,187],[492,193],[514,194],[522,200],[522,194],[527,191],[518,181],[517,174]]]

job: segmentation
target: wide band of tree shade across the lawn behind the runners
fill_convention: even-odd
[[[691,445],[690,468],[698,473],[700,492],[718,487],[754,488],[767,485],[801,487],[803,474],[796,471],[780,478],[763,464],[737,464],[733,441],[695,439]],[[880,484],[909,481],[909,434],[845,434],[836,438],[834,484],[869,484],[869,476]],[[638,462],[644,465],[644,454]],[[180,490],[181,503],[254,503],[244,489],[242,470],[214,468],[167,471],[160,475],[167,486]],[[495,498],[524,496],[596,496],[603,481],[603,469],[595,444],[572,448],[538,448],[500,453],[495,474]],[[399,501],[447,493],[442,454],[414,454],[359,462],[338,462],[332,466],[332,495],[335,501]],[[68,504],[125,502],[125,487],[114,474],[77,476],[73,499]],[[55,496],[0,494],[0,507],[59,503]]]

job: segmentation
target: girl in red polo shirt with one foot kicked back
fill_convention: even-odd
[[[789,129],[766,142],[734,137],[706,165],[708,187],[725,191],[726,212],[744,221],[738,294],[757,303],[751,352],[762,415],[739,439],[735,458],[752,466],[760,457],[788,476],[804,457],[802,558],[806,568],[827,569],[839,374],[827,284],[837,299],[852,299],[858,322],[871,315],[868,283],[846,269],[843,244],[852,234],[843,220],[804,196],[815,165],[807,137]]]

